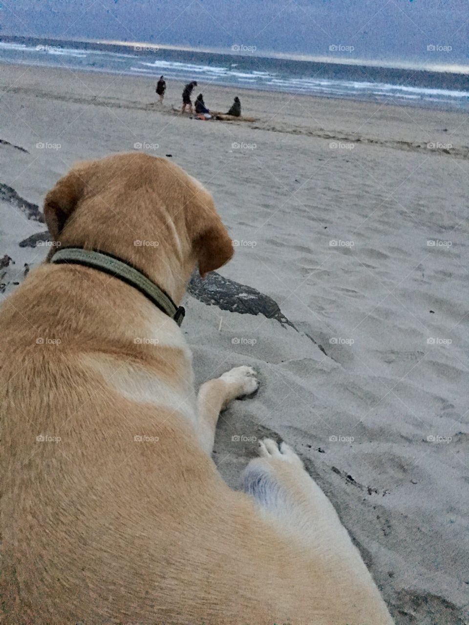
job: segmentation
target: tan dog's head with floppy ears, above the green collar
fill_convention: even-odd
[[[196,264],[204,276],[233,256],[209,192],[148,154],[78,163],[48,192],[44,216],[57,245],[119,256],[176,299]]]

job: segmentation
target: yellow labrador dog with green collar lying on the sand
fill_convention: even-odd
[[[178,305],[231,240],[172,163],[78,164],[46,196],[56,245],[0,311],[5,625],[389,625],[330,502],[266,439],[229,489],[219,411],[235,367],[194,392]]]

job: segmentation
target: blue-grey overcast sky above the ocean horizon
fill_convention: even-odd
[[[469,63],[469,0],[0,0],[0,7],[0,34],[315,56],[343,46],[333,54]]]

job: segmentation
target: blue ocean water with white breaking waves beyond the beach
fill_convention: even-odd
[[[333,61],[265,58],[123,42],[0,37],[0,63],[189,80],[239,89],[469,109],[469,75]]]

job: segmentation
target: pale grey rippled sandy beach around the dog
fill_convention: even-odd
[[[250,123],[173,113],[183,85],[0,65],[0,301],[48,247],[34,204],[71,164],[171,158],[212,192],[235,241],[223,276],[291,325],[186,296],[203,382],[251,364],[214,461],[240,475],[269,434],[305,461],[398,625],[469,623],[469,124],[466,114],[199,84]],[[149,232],[151,239],[151,232]],[[21,316],[21,312],[19,312]],[[27,320],[24,320],[27,322]],[[293,327],[292,327],[293,326]],[[371,624],[370,624],[371,625]]]

